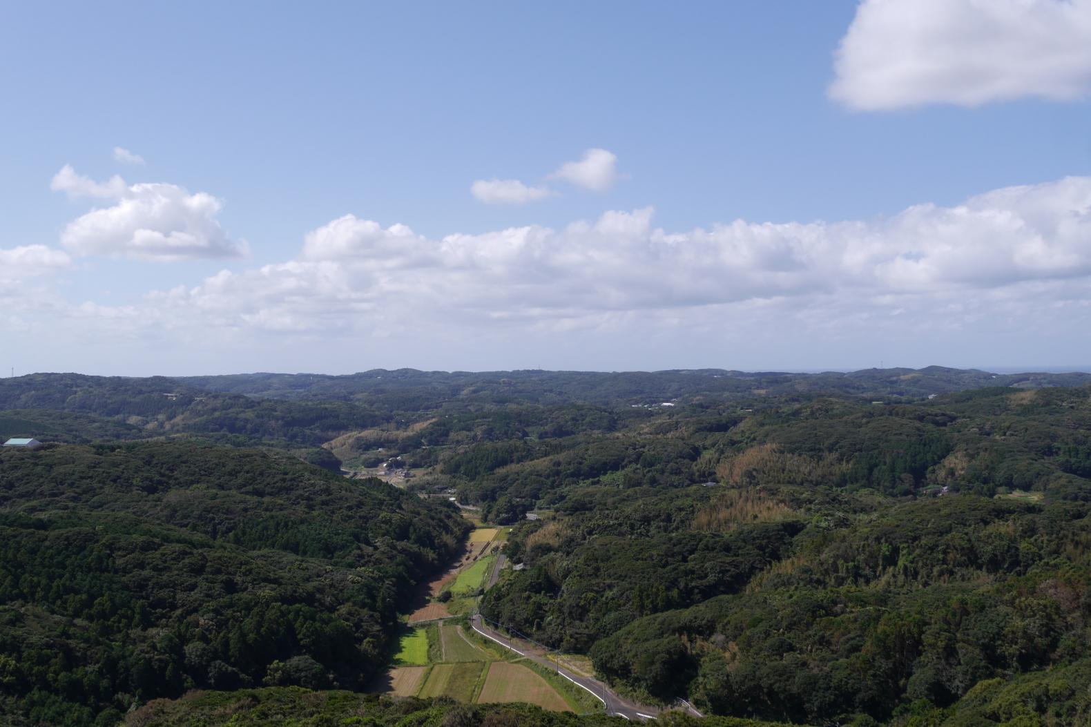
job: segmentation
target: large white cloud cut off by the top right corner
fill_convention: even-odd
[[[1091,0],[864,0],[830,97],[850,108],[980,106],[1091,91]]]

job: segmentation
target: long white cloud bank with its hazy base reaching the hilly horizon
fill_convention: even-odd
[[[436,239],[346,215],[308,233],[295,260],[137,303],[71,305],[48,276],[34,287],[0,275],[4,310],[22,311],[0,314],[0,329],[36,315],[88,350],[131,342],[134,355],[176,369],[185,347],[233,370],[271,356],[281,368],[290,359],[325,370],[361,357],[468,368],[753,368],[777,357],[843,366],[866,361],[876,342],[949,364],[988,364],[968,360],[985,351],[1019,365],[1012,357],[1042,345],[1075,351],[1070,361],[1091,354],[1072,335],[1091,325],[1091,177],[870,221],[669,231],[654,219],[651,208],[611,211],[561,228]],[[43,270],[65,263],[44,248],[19,255]],[[999,339],[1019,343],[1005,353]],[[177,360],[163,353],[170,346]],[[109,368],[116,350],[100,348]]]

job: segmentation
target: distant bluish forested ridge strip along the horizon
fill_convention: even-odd
[[[671,371],[418,371],[375,369],[348,376],[245,373],[189,377],[179,382],[206,391],[285,400],[361,402],[389,410],[465,404],[657,404],[718,402],[754,395],[840,394],[923,398],[983,386],[1077,386],[1089,373],[996,374],[976,369],[864,369],[849,373]]]

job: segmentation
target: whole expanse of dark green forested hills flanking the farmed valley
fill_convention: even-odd
[[[8,724],[606,724],[325,691],[464,527],[300,461],[391,458],[516,524],[485,616],[645,702],[1091,723],[1088,374],[35,374],[0,434],[50,442],[0,454]]]

